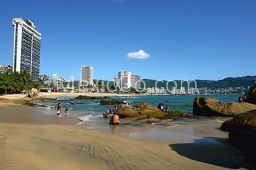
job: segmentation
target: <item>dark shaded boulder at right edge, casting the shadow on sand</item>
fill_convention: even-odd
[[[248,160],[256,161],[256,110],[225,121],[221,129],[229,132],[231,144],[245,149]]]

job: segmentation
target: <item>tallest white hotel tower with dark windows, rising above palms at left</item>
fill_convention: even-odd
[[[26,71],[39,78],[41,34],[30,20],[14,18],[13,71]]]

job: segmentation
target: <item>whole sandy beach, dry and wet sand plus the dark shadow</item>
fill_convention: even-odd
[[[206,125],[193,128],[200,134],[197,139],[181,133],[182,128],[174,129],[174,136],[185,134],[177,140],[134,139],[84,128],[76,125],[74,117],[46,116],[43,109],[11,102],[23,97],[7,95],[0,100],[1,169],[253,168],[242,151],[227,143],[227,133],[209,131]]]

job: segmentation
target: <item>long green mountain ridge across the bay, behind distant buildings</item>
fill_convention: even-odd
[[[253,81],[256,80],[256,76],[246,76],[246,77],[227,77],[222,80],[218,81],[210,81],[210,80],[195,80],[197,82],[198,88],[206,87],[207,89],[218,89],[218,88],[229,88],[229,87],[247,87],[252,85]],[[142,79],[146,83],[147,87],[154,87],[155,82],[157,80],[151,80],[151,79]],[[181,81],[175,80],[177,83],[177,88],[181,87]],[[165,87],[166,88],[167,81],[158,81],[157,87]],[[174,82],[170,82],[168,84],[168,88],[171,86],[174,86]],[[183,87],[187,86],[187,82],[182,83]],[[143,87],[143,84],[142,84]],[[194,87],[194,82],[190,83],[190,87]]]

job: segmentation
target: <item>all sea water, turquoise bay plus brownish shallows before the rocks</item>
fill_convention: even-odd
[[[168,105],[171,110],[180,110],[182,112],[192,114],[193,101],[195,97],[214,97],[219,101],[232,102],[237,101],[239,94],[226,95],[183,95],[183,96],[129,96],[129,97],[111,97],[120,101],[130,102],[131,105],[138,105],[141,102],[149,103],[157,106],[159,103]],[[177,118],[175,120],[166,121],[148,121],[138,120],[136,118],[121,119],[121,124],[118,126],[109,125],[110,118],[104,119],[102,113],[106,109],[114,109],[114,105],[100,105],[100,100],[97,99],[74,99],[74,97],[58,97],[57,101],[38,101],[40,105],[46,105],[45,113],[48,115],[56,115],[55,105],[58,102],[62,103],[62,115],[65,113],[65,105],[68,105],[69,115],[67,117],[76,117],[78,126],[85,128],[93,128],[104,132],[112,132],[114,134],[122,134],[134,138],[143,139],[154,138],[165,140],[180,140],[181,137],[191,137],[196,139],[202,134],[201,128],[210,133],[218,133],[216,129],[225,117],[201,117],[200,119]],[[63,117],[60,117],[63,118]],[[166,135],[169,134],[169,135]],[[179,134],[179,135],[178,135]],[[164,137],[163,137],[164,136]],[[169,136],[169,137],[166,137]],[[203,136],[203,135],[202,135]],[[170,139],[171,138],[171,139]]]

